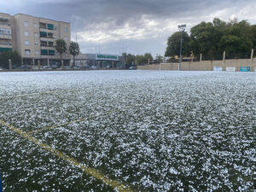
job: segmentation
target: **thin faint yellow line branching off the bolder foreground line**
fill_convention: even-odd
[[[133,108],[135,106],[136,105],[131,105],[131,106],[128,106],[127,108],[125,108],[125,109]],[[64,124],[57,124],[57,125],[51,125],[51,126],[43,127],[41,129],[38,129],[38,130],[35,130],[35,131],[28,131],[28,132],[26,132],[26,134],[38,133],[38,132],[41,132],[41,131],[55,129],[55,128],[60,127],[60,126],[70,125],[70,124],[73,124],[73,123],[81,122],[85,119],[91,119],[91,118],[95,118],[95,117],[98,117],[98,116],[101,116],[101,115],[110,114],[110,113],[117,112],[117,111],[118,110],[112,110],[112,111],[109,111],[108,113],[102,113],[102,114],[100,113],[100,114],[96,114],[96,115],[91,115],[89,117],[84,117],[82,119],[71,120],[71,121],[69,121],[67,123],[64,123]]]

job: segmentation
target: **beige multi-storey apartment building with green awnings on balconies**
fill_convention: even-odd
[[[68,64],[70,55],[70,24],[31,15],[0,14],[0,52],[16,50],[24,65],[53,65],[61,60]],[[67,53],[60,55],[55,40],[64,39]]]

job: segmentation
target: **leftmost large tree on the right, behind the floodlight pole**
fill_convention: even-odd
[[[174,32],[171,37],[167,40],[166,54],[165,56],[179,56],[180,51],[180,39],[181,32]],[[189,49],[189,34],[187,32],[183,32],[183,52],[182,55],[190,55]]]

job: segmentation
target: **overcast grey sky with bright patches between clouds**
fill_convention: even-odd
[[[0,12],[71,23],[83,53],[164,55],[177,25],[238,18],[256,24],[256,0],[0,0]]]

